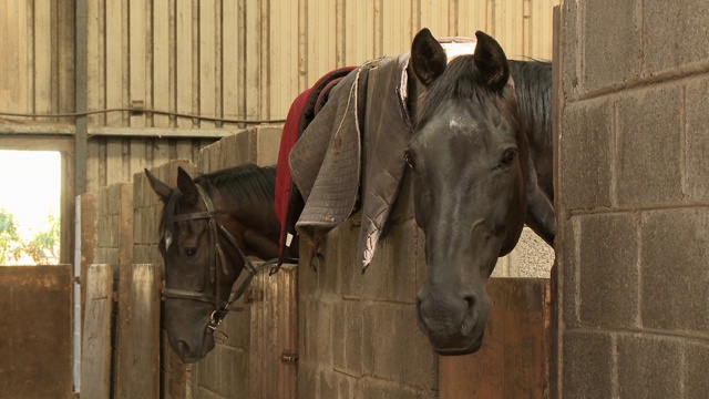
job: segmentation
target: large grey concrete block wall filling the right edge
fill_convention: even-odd
[[[709,392],[709,3],[561,6],[559,398]]]

